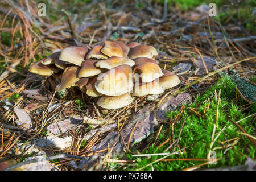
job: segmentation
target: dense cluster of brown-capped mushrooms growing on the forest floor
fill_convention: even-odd
[[[161,94],[180,83],[174,73],[161,69],[155,61],[158,52],[137,42],[105,41],[90,47],[71,46],[32,64],[28,71],[43,76],[57,73],[60,83],[56,92],[77,86],[97,105],[119,109],[134,97]]]

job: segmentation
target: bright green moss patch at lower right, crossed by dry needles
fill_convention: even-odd
[[[183,154],[171,155],[167,159],[185,159],[185,158],[194,158],[194,159],[207,159],[210,143],[212,140],[213,133],[213,124],[216,124],[216,110],[217,110],[217,101],[214,96],[214,90],[217,91],[217,100],[218,100],[218,92],[221,89],[221,100],[218,108],[218,124],[216,127],[216,131],[214,134],[214,138],[220,133],[216,141],[212,146],[212,150],[216,152],[216,157],[221,158],[217,161],[217,164],[205,165],[203,168],[216,168],[216,167],[224,167],[224,166],[235,166],[244,164],[246,161],[246,156],[250,158],[255,158],[255,146],[247,139],[244,135],[239,134],[242,132],[236,125],[229,121],[232,119],[233,121],[239,121],[240,119],[245,118],[247,115],[251,115],[256,111],[256,105],[250,107],[250,109],[246,111],[242,111],[239,109],[241,105],[246,104],[245,101],[234,101],[236,98],[236,89],[235,84],[232,80],[225,76],[220,78],[217,81],[215,86],[212,86],[205,94],[202,96],[200,94],[197,95],[196,100],[191,104],[185,105],[185,110],[183,114],[179,117],[179,122],[174,125],[174,138],[177,139],[181,125],[186,116],[185,125],[183,127],[179,147],[184,148]],[[209,99],[210,98],[210,99]],[[207,102],[207,100],[209,101]],[[208,106],[209,110],[206,109],[204,114],[205,103]],[[191,108],[196,108],[196,111],[203,115],[194,113],[191,111]],[[178,110],[173,111],[173,118],[178,114]],[[167,117],[170,118],[171,112],[167,111]],[[250,135],[254,135],[255,123],[252,122],[253,118],[249,117],[239,122],[239,125],[245,129],[247,133]],[[224,129],[224,133],[220,131],[220,129]],[[141,154],[154,154],[154,153],[162,153],[169,146],[169,143],[164,144],[162,147],[157,149],[157,147],[163,143],[166,139],[168,139],[168,131],[169,125],[164,125],[163,129],[158,137],[158,144],[156,146],[151,144],[144,151],[141,151]],[[167,132],[166,132],[167,131]],[[166,132],[166,133],[165,133]],[[165,133],[165,134],[164,134]],[[172,136],[172,130],[170,130]],[[151,135],[150,137],[155,139],[155,136]],[[234,139],[237,137],[237,140],[232,140],[230,142],[226,142],[226,140]],[[172,140],[172,139],[171,139]],[[237,143],[234,143],[236,141]],[[221,144],[220,142],[225,142]],[[228,144],[233,145],[232,147],[227,147]],[[215,148],[215,149],[214,149]],[[171,147],[173,150],[173,147]],[[178,149],[176,148],[176,151]],[[138,151],[137,151],[138,152]],[[169,151],[166,151],[169,152]],[[243,154],[241,155],[240,152]],[[136,160],[133,164],[127,164],[126,168],[129,170],[135,170],[146,166],[154,162],[155,159],[160,159],[163,156],[151,156],[151,158],[147,157],[132,157],[131,154],[127,154],[127,158],[129,160]],[[152,164],[154,170],[181,170],[188,167],[196,166],[197,164],[202,164],[205,162],[200,161],[172,161],[172,162],[157,162]],[[113,164],[112,164],[113,166]],[[117,167],[117,165],[115,165]],[[143,170],[151,170],[151,166],[143,168]],[[121,168],[122,169],[122,168]]]

